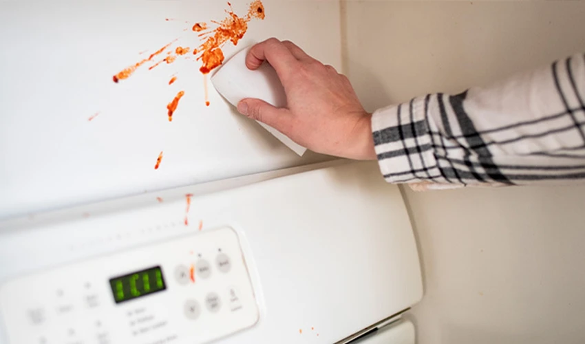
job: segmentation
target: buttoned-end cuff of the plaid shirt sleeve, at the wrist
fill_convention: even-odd
[[[429,97],[374,112],[372,133],[380,171],[391,183],[445,182],[426,116]]]

